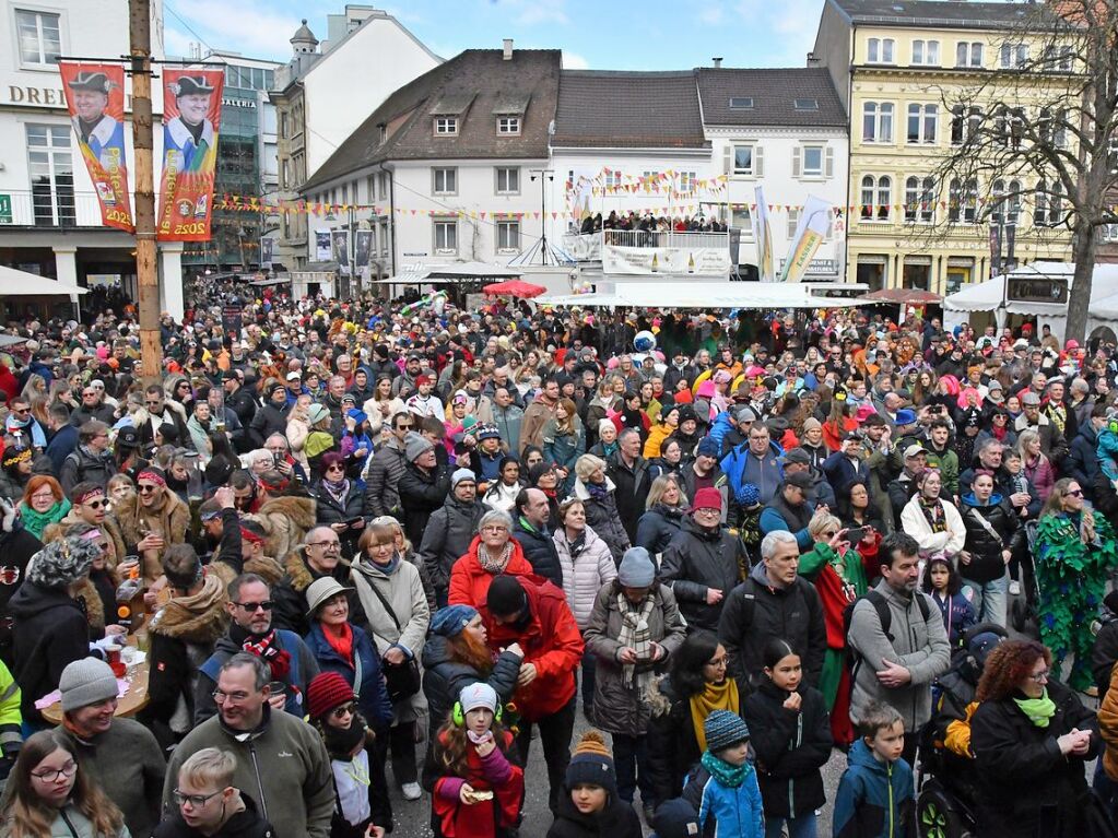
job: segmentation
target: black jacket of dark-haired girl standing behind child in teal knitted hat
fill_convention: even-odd
[[[800,686],[798,692],[799,712],[786,710],[788,693],[766,678],[741,710],[757,752],[757,782],[769,818],[798,817],[826,800],[819,770],[834,746],[831,718],[818,689]]]

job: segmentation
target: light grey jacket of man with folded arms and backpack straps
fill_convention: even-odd
[[[861,660],[854,669],[854,688],[850,699],[850,717],[858,724],[862,711],[877,699],[897,708],[904,720],[906,732],[920,730],[931,718],[931,683],[947,672],[951,650],[939,608],[928,602],[928,619],[923,618],[915,591],[910,597],[898,593],[885,580],[874,589],[889,603],[892,625],[885,636],[873,603],[862,600],[854,607],[846,642]],[[883,661],[900,664],[912,676],[902,687],[889,688],[878,680]]]

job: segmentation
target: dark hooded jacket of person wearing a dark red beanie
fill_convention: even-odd
[[[690,515],[684,518],[679,535],[664,551],[657,578],[672,589],[688,626],[718,631],[726,597],[742,578],[743,556],[739,544],[721,526],[711,532],[699,526]],[[709,588],[722,591],[720,602],[707,603]]]

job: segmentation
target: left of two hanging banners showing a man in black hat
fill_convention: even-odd
[[[132,232],[135,225],[124,159],[124,68],[59,61],[58,73],[78,147],[97,190],[101,222]]]

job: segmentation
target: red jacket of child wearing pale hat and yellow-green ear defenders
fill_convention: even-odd
[[[520,815],[520,801],[524,794],[524,770],[517,765],[504,754],[515,751],[515,743],[509,731],[502,731],[504,743],[492,754],[489,762],[494,768],[486,770],[486,761],[483,761],[477,752],[471,747],[466,752],[467,777],[442,777],[435,782],[435,793],[432,794],[430,804],[435,815],[438,816],[442,832],[445,838],[493,838],[498,827],[511,827],[517,822]],[[439,733],[439,740],[445,743],[445,733]],[[493,777],[494,773],[501,777]],[[504,778],[504,772],[510,772]],[[458,799],[461,783],[455,780],[465,780],[474,791],[492,791],[495,800],[480,802],[467,806]],[[448,781],[452,785],[446,789],[443,785]],[[447,799],[449,792],[454,792],[453,799]],[[495,822],[499,821],[499,822]]]

